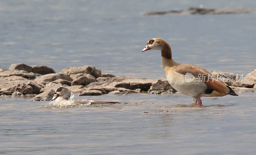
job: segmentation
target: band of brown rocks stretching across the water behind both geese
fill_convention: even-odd
[[[238,78],[233,73],[212,71],[212,76]],[[256,90],[256,70],[247,74],[243,80],[227,82],[235,92],[254,92]],[[12,64],[9,69],[0,68],[0,97],[29,97],[30,100],[51,100],[59,86],[68,87],[77,96],[96,96],[103,94],[179,93],[166,79],[146,79],[116,77],[101,73],[93,66],[68,67],[56,73],[47,66]]]

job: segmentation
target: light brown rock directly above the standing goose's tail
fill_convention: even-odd
[[[211,76],[215,77],[220,82],[225,82],[227,85],[233,85],[238,78],[236,74],[221,71],[211,71]]]

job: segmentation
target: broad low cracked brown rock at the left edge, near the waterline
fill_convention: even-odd
[[[0,84],[1,94],[12,94],[12,92],[21,92],[22,94],[39,94],[42,86],[32,80],[8,81]]]

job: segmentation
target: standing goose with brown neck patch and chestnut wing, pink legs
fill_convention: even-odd
[[[212,78],[209,71],[196,65],[176,63],[172,60],[171,47],[163,39],[150,39],[142,52],[147,50],[161,50],[162,66],[169,84],[175,90],[191,96],[194,101],[191,105],[201,106],[200,97],[216,97],[228,94],[238,96],[226,83]],[[205,80],[202,78],[203,75]],[[186,76],[192,76],[192,78],[188,80]]]

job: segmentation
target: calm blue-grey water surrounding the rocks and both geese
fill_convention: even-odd
[[[1,1],[0,67],[92,65],[103,73],[159,79],[165,77],[160,52],[141,52],[158,37],[180,63],[245,75],[256,69],[255,12],[143,16],[200,4],[256,8],[251,0]],[[255,93],[203,98],[205,107],[188,106],[191,97],[181,94],[86,98],[122,103],[38,109],[47,102],[0,98],[0,153],[256,154]]]

